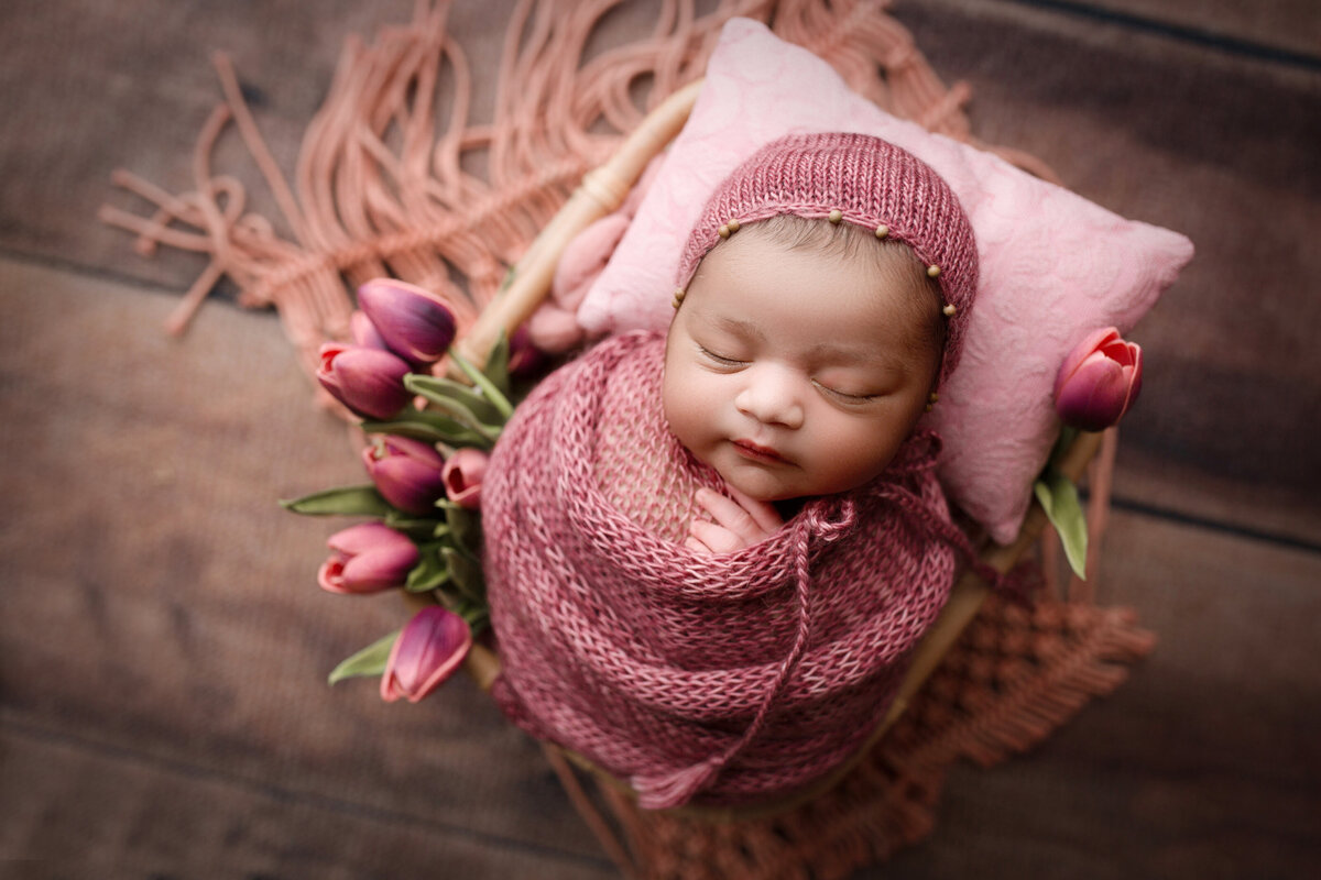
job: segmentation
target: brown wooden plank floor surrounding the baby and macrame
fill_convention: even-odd
[[[95,219],[115,166],[190,185],[211,50],[289,169],[342,40],[411,5],[0,7],[5,877],[617,876],[466,681],[417,707],[322,685],[399,608],[317,590],[333,526],[275,500],[358,480],[353,450],[275,317],[222,298],[165,338],[201,264]],[[509,5],[453,15],[487,74]],[[617,26],[642,33],[647,7]],[[1100,579],[1156,652],[1033,753],[960,768],[934,835],[857,876],[1321,876],[1321,11],[894,12],[972,86],[982,137],[1198,256],[1135,334]]]

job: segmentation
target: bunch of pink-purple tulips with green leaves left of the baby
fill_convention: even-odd
[[[321,347],[317,379],[362,420],[371,482],[281,504],[312,516],[370,517],[330,536],[318,583],[338,594],[403,590],[423,607],[339,664],[330,682],[379,676],[382,698],[416,702],[453,674],[487,624],[482,475],[514,412],[511,369],[531,368],[536,355],[522,346],[511,356],[502,339],[478,369],[450,351],[449,307],[392,278],[359,288],[358,307],[353,342]],[[446,356],[468,381],[432,375]]]

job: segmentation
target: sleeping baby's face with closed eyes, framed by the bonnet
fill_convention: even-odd
[[[878,475],[911,433],[937,352],[911,290],[863,256],[789,251],[748,226],[717,244],[670,327],[664,414],[679,441],[762,501]]]

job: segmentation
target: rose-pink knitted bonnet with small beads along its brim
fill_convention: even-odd
[[[782,214],[860,226],[913,248],[947,318],[939,385],[958,367],[978,286],[978,248],[963,206],[926,162],[871,135],[789,135],[762,146],[708,199],[679,259],[678,286],[738,227]]]

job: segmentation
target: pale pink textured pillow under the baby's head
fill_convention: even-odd
[[[1128,332],[1193,244],[896,119],[806,49],[734,18],[692,116],[579,309],[587,331],[664,329],[683,243],[711,191],[762,144],[810,131],[861,132],[908,149],[945,177],[972,222],[978,302],[963,361],[926,424],[945,438],[939,475],[951,500],[1008,542],[1059,429],[1052,387],[1065,355],[1098,327]]]

